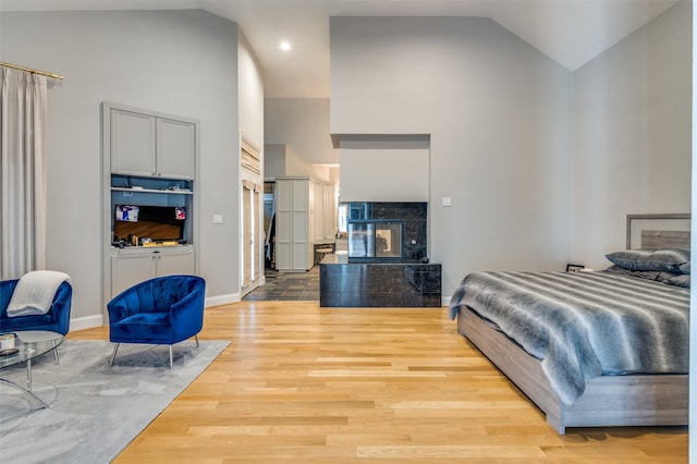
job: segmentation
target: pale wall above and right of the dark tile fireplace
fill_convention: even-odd
[[[469,271],[564,269],[572,73],[486,19],[333,17],[330,34],[331,132],[431,136],[443,296]]]

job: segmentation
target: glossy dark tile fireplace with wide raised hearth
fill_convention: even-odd
[[[426,203],[351,203],[348,254],[320,264],[322,307],[440,307],[441,265],[428,262]]]

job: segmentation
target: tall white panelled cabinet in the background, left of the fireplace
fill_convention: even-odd
[[[315,261],[315,183],[309,178],[276,179],[276,268],[306,271]]]

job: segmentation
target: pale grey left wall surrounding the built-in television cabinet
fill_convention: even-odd
[[[234,23],[194,10],[5,12],[0,59],[65,75],[48,97],[47,266],[71,274],[74,319],[103,314],[103,100],[200,121],[200,274],[208,296],[240,293],[239,193],[230,182],[239,178],[241,124]],[[259,134],[258,125],[245,130]],[[224,223],[211,225],[213,213]]]

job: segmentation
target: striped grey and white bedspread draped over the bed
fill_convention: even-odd
[[[601,375],[686,374],[689,290],[610,272],[474,272],[468,306],[541,359],[566,404]]]

